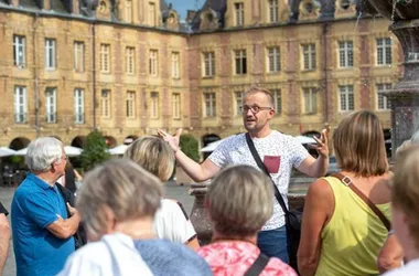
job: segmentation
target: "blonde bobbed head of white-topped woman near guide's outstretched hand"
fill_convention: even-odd
[[[173,150],[158,137],[146,136],[137,139],[128,147],[123,157],[131,159],[161,181],[166,181],[173,173]]]

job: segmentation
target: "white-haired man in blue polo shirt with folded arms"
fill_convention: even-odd
[[[30,173],[11,206],[18,276],[56,275],[75,250],[73,235],[80,221],[55,185],[64,176],[67,157],[60,140],[44,137],[29,145],[25,159]]]

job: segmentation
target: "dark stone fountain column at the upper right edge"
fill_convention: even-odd
[[[380,14],[391,21],[389,30],[398,38],[404,51],[405,74],[388,98],[391,102],[391,148],[397,147],[419,127],[419,1],[358,0],[358,12]]]

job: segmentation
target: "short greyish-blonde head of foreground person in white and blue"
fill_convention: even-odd
[[[87,232],[100,236],[107,226],[106,209],[118,222],[153,217],[160,208],[158,178],[128,159],[111,159],[89,171],[77,197]]]

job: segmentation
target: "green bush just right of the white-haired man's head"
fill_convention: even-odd
[[[105,137],[97,130],[92,131],[86,137],[86,146],[80,155],[82,167],[85,171],[88,171],[109,158],[110,155]]]

